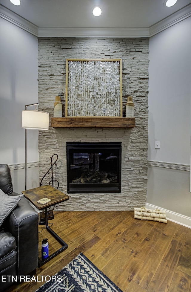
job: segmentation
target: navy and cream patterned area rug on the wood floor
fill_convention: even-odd
[[[35,292],[123,292],[83,253],[59,271],[61,282],[47,282]]]

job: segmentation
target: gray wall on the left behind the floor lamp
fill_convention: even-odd
[[[38,40],[0,18],[0,163],[9,164],[15,192],[24,190],[24,105],[38,102]],[[31,108],[33,109],[33,108]],[[38,131],[28,130],[28,187],[38,186]],[[36,162],[35,164],[33,162]]]

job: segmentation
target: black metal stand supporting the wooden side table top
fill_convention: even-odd
[[[60,238],[49,226],[48,226],[48,215],[47,215],[47,208],[45,208],[45,224],[46,224],[46,229],[48,232],[62,245],[61,248],[59,248],[57,251],[55,251],[53,254],[48,256],[46,259],[41,260],[38,258],[38,266],[41,267],[42,265],[46,264],[49,262],[51,259],[53,259],[55,256],[57,256],[59,253],[67,249],[68,244]]]

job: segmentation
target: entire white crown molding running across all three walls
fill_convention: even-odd
[[[150,27],[78,28],[38,27],[0,4],[0,17],[37,37],[151,37],[191,16],[191,4]]]

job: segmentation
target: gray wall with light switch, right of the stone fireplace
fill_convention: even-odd
[[[191,17],[150,38],[148,161],[156,163],[147,181],[147,203],[189,217],[190,27]]]

